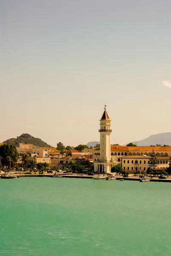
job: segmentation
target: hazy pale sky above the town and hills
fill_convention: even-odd
[[[170,0],[0,0],[0,142],[171,132]]]

